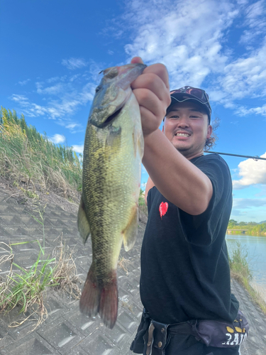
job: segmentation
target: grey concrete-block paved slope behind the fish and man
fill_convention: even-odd
[[[17,243],[38,239],[43,244],[43,226],[33,219],[40,219],[38,209],[18,204],[10,194],[0,190],[0,241]],[[90,242],[83,246],[77,238],[77,211],[66,212],[59,205],[49,204],[45,207],[45,253],[51,254],[58,245],[57,237],[62,234],[66,244],[75,246],[74,258],[77,271],[82,281],[85,280],[92,262]],[[139,297],[140,247],[145,224],[140,222],[138,240],[132,251],[121,251],[121,256],[128,262],[127,271],[118,268],[119,309],[116,326],[106,329],[99,317],[94,320],[79,313],[77,300],[70,295],[58,292],[47,294],[45,305],[48,319],[34,332],[33,322],[25,322],[20,327],[9,327],[18,321],[21,315],[13,310],[0,319],[0,354],[8,355],[129,355],[129,346],[140,320],[142,305]],[[56,240],[57,239],[57,240]],[[31,266],[38,257],[38,244],[21,244],[13,248],[14,262],[24,268]],[[1,257],[1,251],[0,251]],[[3,275],[7,271],[2,268]],[[248,342],[242,348],[243,355],[266,354],[266,320],[260,310],[253,305],[238,283],[233,282],[233,292],[240,300],[241,308],[248,315],[251,332]]]

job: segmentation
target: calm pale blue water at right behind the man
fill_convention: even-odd
[[[266,289],[266,237],[226,234],[229,255],[235,241],[239,241],[241,247],[248,252],[248,265],[253,272],[253,280]]]

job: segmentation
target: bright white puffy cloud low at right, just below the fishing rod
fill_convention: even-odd
[[[260,155],[266,158],[266,153]],[[265,160],[248,159],[238,164],[240,180],[233,180],[233,188],[235,190],[248,187],[250,185],[262,184],[266,185],[266,164]]]

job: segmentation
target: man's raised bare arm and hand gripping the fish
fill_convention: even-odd
[[[142,60],[136,57],[131,62]],[[211,181],[184,158],[158,129],[171,102],[165,65],[155,64],[146,67],[131,86],[140,104],[145,143],[143,165],[153,184],[167,200],[184,212],[192,215],[201,214],[211,200],[213,193]],[[147,188],[146,192],[148,195]],[[147,195],[145,193],[145,200]]]

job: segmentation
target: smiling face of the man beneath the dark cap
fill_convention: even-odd
[[[212,127],[201,106],[187,101],[172,105],[162,131],[177,151],[185,158],[192,159],[203,153]]]

